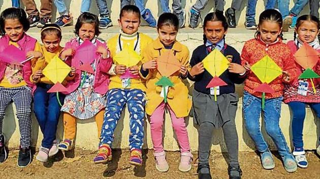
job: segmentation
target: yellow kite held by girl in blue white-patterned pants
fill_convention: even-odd
[[[129,69],[129,67],[137,65],[142,60],[142,57],[133,49],[126,46],[121,52],[113,57],[113,60],[117,64],[124,65],[127,68],[125,73],[120,77],[121,79],[139,77],[139,75],[133,75]]]

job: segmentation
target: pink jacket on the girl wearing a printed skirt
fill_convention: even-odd
[[[106,43],[101,42],[97,39],[97,47],[99,47],[99,46],[107,48]],[[67,50],[67,49],[75,49],[76,50],[78,47],[79,47],[79,42],[78,42],[77,38],[74,38],[66,43],[66,47],[64,50]],[[79,61],[75,60],[74,57],[67,58],[66,63],[77,69],[75,77],[72,80],[68,81],[68,83],[66,85],[68,92],[64,92],[63,94],[67,95],[67,94],[74,92],[79,87],[80,82],[81,82],[81,70],[78,69],[78,67],[80,67]],[[109,89],[108,86],[110,83],[110,79],[109,79],[109,75],[107,74],[107,72],[111,68],[112,59],[111,59],[111,57],[109,57],[107,59],[103,59],[103,58],[99,57],[96,60],[96,63],[97,64],[95,64],[95,65],[97,66],[97,69],[95,70],[93,88],[94,88],[94,92],[97,92],[101,95],[104,95],[107,93],[107,91]]]

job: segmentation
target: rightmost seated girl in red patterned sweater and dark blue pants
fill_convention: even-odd
[[[318,39],[316,39],[317,35],[319,34],[319,29],[320,22],[318,18],[312,15],[303,15],[299,17],[294,33],[294,40],[291,40],[287,43],[291,49],[291,52],[295,54],[303,43],[308,43],[313,49],[320,52],[319,41]],[[300,76],[305,69],[303,69],[297,63],[296,65],[298,76]],[[314,66],[313,70],[315,71],[315,73],[320,74],[319,62]],[[300,87],[302,85],[306,85],[307,88],[303,90]],[[292,84],[285,85],[283,90],[284,102],[289,105],[293,114],[293,155],[296,158],[298,166],[301,168],[306,168],[308,166],[308,161],[305,156],[302,140],[303,121],[306,115],[305,106],[309,105],[315,111],[316,116],[320,118],[320,81],[314,79],[314,85],[316,93],[313,92],[310,79],[296,78],[294,79],[294,82]]]

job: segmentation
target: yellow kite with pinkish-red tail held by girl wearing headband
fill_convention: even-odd
[[[58,56],[54,56],[48,65],[42,70],[42,74],[54,83],[47,93],[57,93],[57,100],[60,106],[62,105],[59,101],[59,92],[67,92],[67,88],[61,83],[65,80],[70,71],[71,68],[59,59]]]

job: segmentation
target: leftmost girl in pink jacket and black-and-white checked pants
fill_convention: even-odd
[[[29,29],[29,23],[23,9],[8,8],[1,13],[0,29],[0,52],[3,52],[9,45],[16,46],[26,53],[26,57],[39,58],[40,44],[33,37],[25,32]],[[11,54],[14,56],[14,54]],[[34,59],[23,63],[23,66],[9,64],[0,59],[0,162],[7,159],[5,149],[5,136],[2,134],[2,121],[6,115],[6,108],[14,102],[17,112],[20,130],[20,151],[18,166],[26,167],[31,162],[31,101],[35,84],[31,83],[31,63]]]

